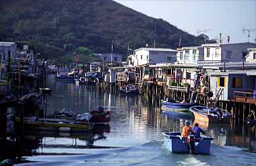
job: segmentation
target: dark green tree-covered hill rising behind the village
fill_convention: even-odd
[[[156,34],[154,25],[156,24]],[[162,19],[154,19],[111,0],[9,0],[0,1],[0,40],[27,43],[48,58],[61,60],[79,46],[93,52],[127,54],[156,43],[177,48],[204,42]]]

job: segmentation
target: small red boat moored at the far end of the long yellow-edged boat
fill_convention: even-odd
[[[110,122],[110,111],[104,111],[102,113],[98,111],[92,111],[86,114],[77,115],[77,120],[82,122],[88,122],[93,124],[106,124]]]

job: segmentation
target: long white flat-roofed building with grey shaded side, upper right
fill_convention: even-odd
[[[224,63],[245,61],[248,48],[254,43],[214,43],[178,48],[177,63]]]

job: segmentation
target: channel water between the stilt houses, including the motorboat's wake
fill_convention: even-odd
[[[191,118],[162,113],[157,97],[126,96],[93,85],[58,82],[54,75],[49,75],[48,87],[53,92],[47,96],[47,114],[63,108],[84,113],[103,106],[111,110],[111,122],[91,133],[32,134],[38,138],[32,148],[32,155],[36,156],[28,159],[44,161],[33,165],[226,165],[229,162],[253,165],[256,162],[255,154],[236,148],[255,150],[255,128],[199,123],[214,137],[211,155],[174,155],[164,150],[162,132],[181,131],[185,120]],[[49,156],[58,154],[62,156]]]

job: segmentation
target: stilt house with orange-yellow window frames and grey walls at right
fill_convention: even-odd
[[[214,97],[219,89],[223,88],[220,95],[222,101],[234,99],[236,95],[253,98],[253,91],[256,89],[255,71],[214,72],[208,75],[210,75],[210,91],[214,93]]]

